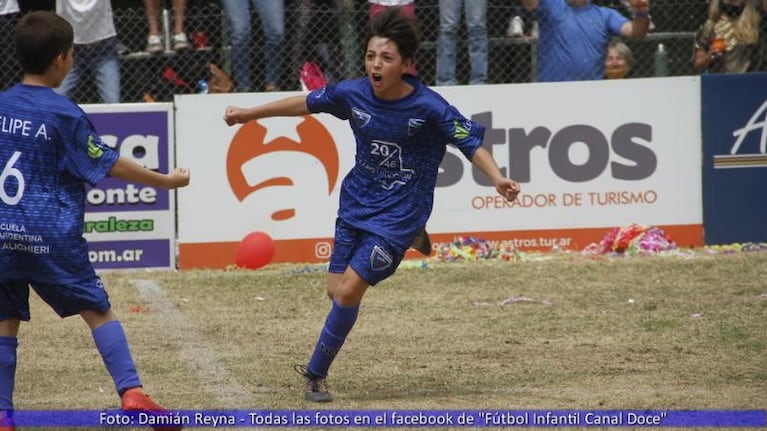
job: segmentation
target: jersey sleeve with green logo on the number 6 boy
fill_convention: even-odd
[[[65,166],[76,178],[96,185],[112,169],[119,154],[101,140],[83,115],[74,120],[71,136],[64,136]]]

